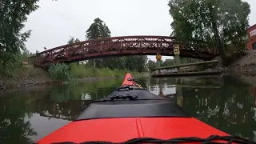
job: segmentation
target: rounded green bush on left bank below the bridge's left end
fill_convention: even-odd
[[[70,78],[70,67],[65,63],[58,63],[50,65],[50,77],[56,80],[68,80]]]

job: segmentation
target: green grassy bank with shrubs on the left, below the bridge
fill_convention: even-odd
[[[127,72],[134,76],[146,75],[130,70],[94,69],[82,64],[71,63],[50,66],[48,71],[31,65],[19,66],[12,75],[0,75],[0,89],[24,88],[62,82],[86,82],[105,78],[123,77]]]

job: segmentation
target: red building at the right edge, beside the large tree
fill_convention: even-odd
[[[247,42],[247,50],[256,50],[256,24],[254,26],[250,26],[247,30],[248,42]]]

